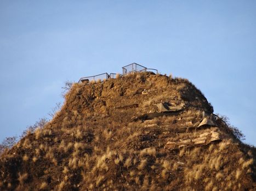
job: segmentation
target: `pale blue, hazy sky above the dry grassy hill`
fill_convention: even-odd
[[[256,145],[256,1],[0,1],[0,140],[64,81],[140,63],[185,77]]]

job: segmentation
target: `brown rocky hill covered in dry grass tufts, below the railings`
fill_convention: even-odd
[[[185,79],[76,83],[0,158],[0,190],[253,190],[255,149]]]

